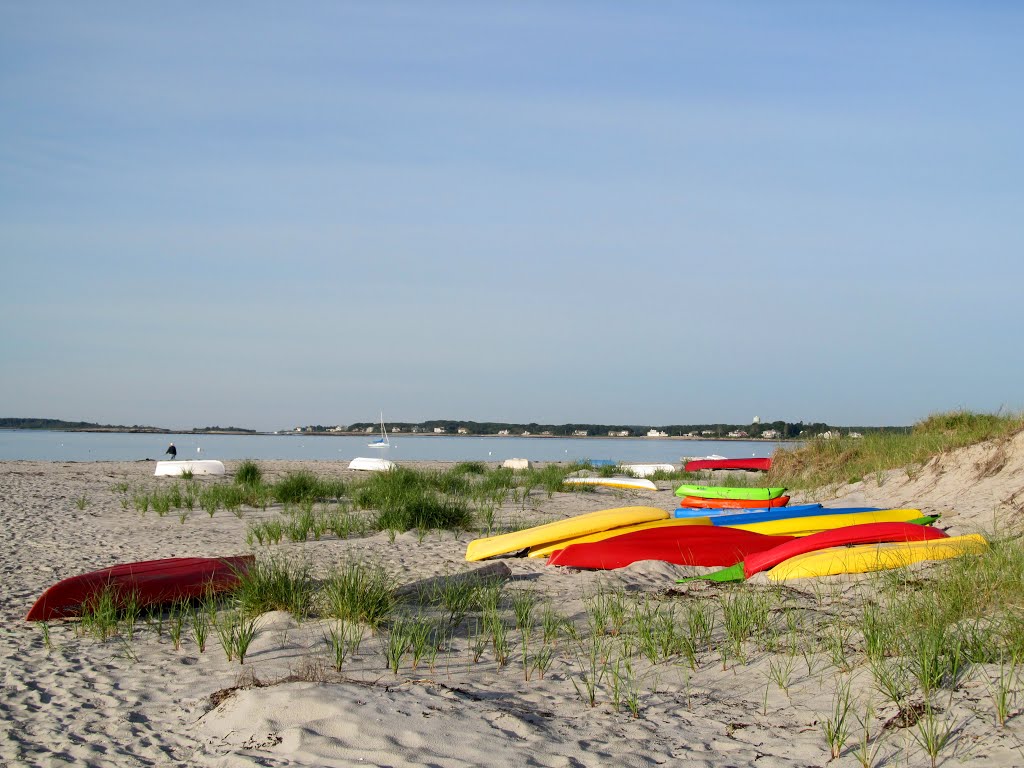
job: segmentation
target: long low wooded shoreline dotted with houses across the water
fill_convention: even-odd
[[[588,436],[607,436],[609,433],[629,432],[630,436],[643,436],[651,430],[665,432],[670,437],[701,437],[705,439],[726,438],[732,433],[745,433],[746,437],[759,438],[769,433],[772,437],[792,439],[808,435],[824,434],[825,432],[907,432],[909,427],[838,427],[821,422],[785,422],[773,421],[758,424],[506,424],[502,422],[452,421],[435,419],[424,422],[385,422],[389,431],[427,432],[433,433],[435,428],[443,429],[446,434],[457,434],[465,429],[469,434],[497,435],[508,431],[511,435],[521,435],[529,432],[531,435],[551,435],[554,437],[573,437],[584,432]],[[379,429],[376,422],[356,422],[347,427],[349,432],[365,432],[368,429]],[[333,427],[315,425],[310,427],[313,432],[328,432]]]

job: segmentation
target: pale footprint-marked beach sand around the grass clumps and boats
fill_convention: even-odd
[[[227,463],[228,474],[236,467]],[[260,467],[267,479],[296,469],[355,474],[333,462]],[[175,482],[154,478],[152,462],[0,464],[5,765],[854,766],[861,764],[855,754],[859,725],[836,760],[822,735],[844,682],[855,712],[866,715],[871,765],[929,764],[913,729],[895,722],[898,710],[874,691],[866,669],[839,669],[824,651],[796,657],[787,690],[773,682],[784,656],[754,645],[744,658],[725,663],[712,651],[699,652],[693,665],[681,657],[651,664],[637,654],[626,688],[616,690],[606,675],[592,707],[583,695],[583,646],[567,636],[553,643],[543,677],[523,665],[523,640],[515,630],[509,659],[501,665],[487,651],[474,660],[465,628],[432,665],[413,669],[406,659],[394,674],[383,634],[367,630],[339,673],[325,641],[329,623],[315,617],[298,623],[284,612],[262,615],[244,665],[228,662],[216,637],[205,652],[187,637],[175,649],[166,631],[158,634],[141,622],[130,639],[105,641],[79,636],[75,623],[50,625],[47,637],[39,625],[25,622],[36,597],[56,581],[134,560],[255,552],[301,558],[322,575],[358,558],[382,564],[406,586],[483,566],[464,559],[477,532],[410,532],[393,541],[387,532],[347,540],[327,535],[250,546],[249,525],[280,516],[280,506],[246,508],[241,516],[221,509],[212,517],[197,508],[183,520],[176,511],[141,515],[117,487]],[[602,489],[549,498],[535,490],[527,500],[506,502],[498,519],[545,522],[632,504],[672,510],[672,490],[665,481],[656,493]],[[1024,503],[1024,437],[948,454],[910,474],[893,471],[829,488],[825,496],[816,501],[941,513],[941,527],[949,532],[991,530]],[[506,594],[536,591],[580,626],[586,625],[587,600],[599,593],[685,606],[695,600],[714,605],[729,589],[676,584],[693,569],[649,561],[609,572],[548,568],[527,558],[502,562],[509,568]],[[796,609],[842,620],[853,595],[873,585],[870,577],[834,577],[751,589],[771,590],[780,615]],[[540,647],[538,638],[530,642],[527,654]],[[615,642],[609,635],[608,643]],[[994,674],[977,665],[956,690],[943,691],[941,718],[952,726],[952,738],[940,764],[1024,764],[1021,718],[995,723]],[[626,703],[631,692],[635,712]],[[1015,693],[1014,715],[1021,703]]]

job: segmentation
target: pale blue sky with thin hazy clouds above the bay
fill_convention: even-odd
[[[0,0],[0,416],[1020,411],[1022,39],[984,0]]]

